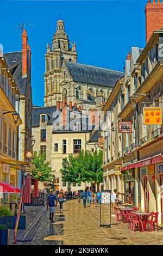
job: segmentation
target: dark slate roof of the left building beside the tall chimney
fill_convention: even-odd
[[[20,90],[20,94],[24,95],[26,93],[27,77],[22,77],[22,52],[8,52],[4,53],[3,56]],[[14,60],[15,58],[16,60]]]

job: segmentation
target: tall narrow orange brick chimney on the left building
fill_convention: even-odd
[[[22,33],[22,77],[27,76],[27,33],[23,29]]]

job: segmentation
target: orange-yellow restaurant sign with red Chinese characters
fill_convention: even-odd
[[[161,107],[143,107],[144,125],[162,124]]]

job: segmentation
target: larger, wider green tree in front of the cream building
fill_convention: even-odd
[[[102,169],[103,154],[102,151],[82,150],[77,156],[70,154],[61,169],[62,180],[72,182],[95,182],[103,181]]]

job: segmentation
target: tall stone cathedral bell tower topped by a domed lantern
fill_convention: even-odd
[[[71,48],[70,48],[71,44]],[[63,60],[77,62],[76,44],[68,40],[64,21],[57,21],[57,31],[53,35],[52,44],[47,44],[45,53],[45,106],[56,106],[61,100],[61,66]]]

